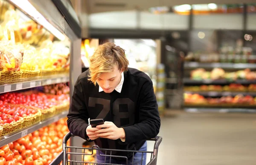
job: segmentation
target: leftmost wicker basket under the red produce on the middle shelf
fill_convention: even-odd
[[[17,131],[18,129],[22,128],[22,123],[23,123],[23,118],[19,117],[20,120],[18,121],[13,121],[12,123],[6,123],[6,124],[1,124],[0,126],[3,127],[3,132],[1,136],[4,136],[6,134],[9,134],[13,131]]]

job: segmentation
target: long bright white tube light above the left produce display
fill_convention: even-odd
[[[36,22],[43,25],[48,31],[50,31],[54,36],[63,41],[65,39],[65,35],[58,31],[54,26],[52,26],[45,18],[40,14],[28,0],[11,0],[12,3],[17,5],[27,14],[35,19]]]

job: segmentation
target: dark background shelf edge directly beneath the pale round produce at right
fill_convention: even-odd
[[[227,80],[191,80],[190,78],[183,78],[184,84],[256,84],[256,80],[236,80],[236,81],[227,81]]]

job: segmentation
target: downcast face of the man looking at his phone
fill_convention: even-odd
[[[117,66],[110,73],[102,73],[96,82],[102,87],[105,93],[111,93],[121,80],[122,70],[118,70]]]

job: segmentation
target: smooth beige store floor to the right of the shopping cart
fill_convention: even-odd
[[[171,114],[157,165],[256,165],[256,114]]]

